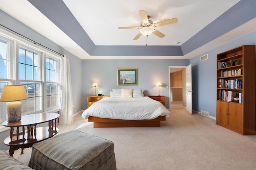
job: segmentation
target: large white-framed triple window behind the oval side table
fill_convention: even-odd
[[[22,84],[28,94],[28,100],[20,101],[22,115],[57,111],[60,59],[60,56],[1,29],[0,95],[5,85]],[[6,102],[0,102],[0,123],[5,120]]]

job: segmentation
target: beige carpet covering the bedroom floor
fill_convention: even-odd
[[[93,128],[74,117],[59,133],[78,129],[114,142],[118,170],[255,170],[256,136],[242,136],[216,121],[172,105],[161,127]],[[31,148],[14,157],[28,164]]]

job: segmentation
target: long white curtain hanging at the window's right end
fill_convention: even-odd
[[[60,68],[60,117],[59,125],[73,123],[73,100],[70,76],[70,64],[67,55],[62,57]]]

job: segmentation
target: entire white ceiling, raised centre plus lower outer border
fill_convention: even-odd
[[[84,28],[95,45],[145,45],[146,37],[138,40],[133,38],[139,29],[118,29],[121,26],[140,26],[139,10],[146,10],[154,23],[178,18],[178,23],[164,25],[156,29],[166,36],[148,37],[148,45],[176,45],[185,43],[209,23],[226,12],[239,0],[63,0],[76,20]],[[60,45],[80,59],[92,59],[86,51],[79,47],[70,37],[38,11],[27,0],[0,0],[0,9],[10,16],[31,27],[44,37]],[[232,41],[235,37],[245,35],[255,30],[253,22],[245,23],[236,30],[204,45],[218,47],[221,43]],[[248,25],[249,24],[249,25]],[[42,26],[43,25],[43,26]],[[242,28],[241,28],[242,27]],[[241,32],[242,31],[242,32]],[[236,33],[236,34],[234,34]],[[240,34],[240,35],[239,35]],[[228,39],[227,39],[228,37]],[[190,59],[200,55],[201,49],[196,49],[185,55]],[[123,56],[122,59],[134,59],[135,56]],[[93,59],[117,59],[118,56],[94,56]],[[178,59],[180,56],[136,56],[136,59]]]

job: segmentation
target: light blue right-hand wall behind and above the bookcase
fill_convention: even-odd
[[[241,45],[256,45],[256,31],[190,59],[193,110],[208,111],[210,116],[216,117],[216,55]],[[200,57],[206,54],[208,60],[200,62]]]

